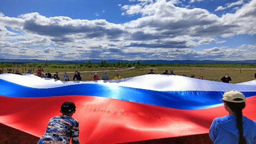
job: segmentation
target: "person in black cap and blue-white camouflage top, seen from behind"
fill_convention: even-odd
[[[73,102],[64,102],[60,107],[62,115],[53,117],[49,120],[45,134],[37,144],[80,144],[79,141],[79,122],[72,116],[76,112]]]

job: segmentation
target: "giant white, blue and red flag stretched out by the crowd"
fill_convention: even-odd
[[[0,75],[0,123],[41,137],[65,101],[76,104],[82,144],[112,144],[209,132],[227,115],[222,95],[247,97],[243,114],[256,120],[256,80],[230,84],[184,76],[143,75],[119,80],[74,81],[34,75]]]

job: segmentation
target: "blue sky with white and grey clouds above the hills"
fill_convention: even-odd
[[[256,59],[256,0],[0,0],[0,58]]]

